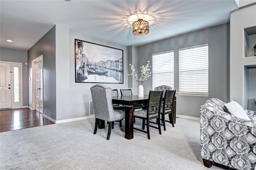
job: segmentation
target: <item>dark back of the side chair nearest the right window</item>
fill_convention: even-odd
[[[166,90],[164,95],[163,113],[168,113],[173,109],[176,90]]]

